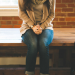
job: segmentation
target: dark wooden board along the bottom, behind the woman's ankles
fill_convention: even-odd
[[[0,68],[0,75],[25,75],[25,67]],[[70,75],[71,68],[49,68],[50,75]],[[35,67],[35,74],[40,75],[40,68]]]

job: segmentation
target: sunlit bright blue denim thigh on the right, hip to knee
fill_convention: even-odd
[[[49,45],[54,37],[54,31],[50,29],[45,29],[42,31],[42,34],[39,35],[39,45],[44,43],[45,45]]]

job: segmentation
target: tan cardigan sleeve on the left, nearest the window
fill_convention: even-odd
[[[23,7],[23,0],[18,0],[18,14],[19,17],[28,24],[29,27],[31,27],[32,25],[34,25],[34,23],[32,22],[32,20],[28,17],[27,13],[25,12],[25,10],[22,10]]]

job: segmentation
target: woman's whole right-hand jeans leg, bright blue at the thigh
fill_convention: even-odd
[[[39,35],[40,75],[49,75],[49,44],[54,36],[53,30],[45,29]]]

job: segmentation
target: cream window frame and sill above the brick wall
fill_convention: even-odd
[[[0,6],[0,16],[18,16],[18,5]]]

